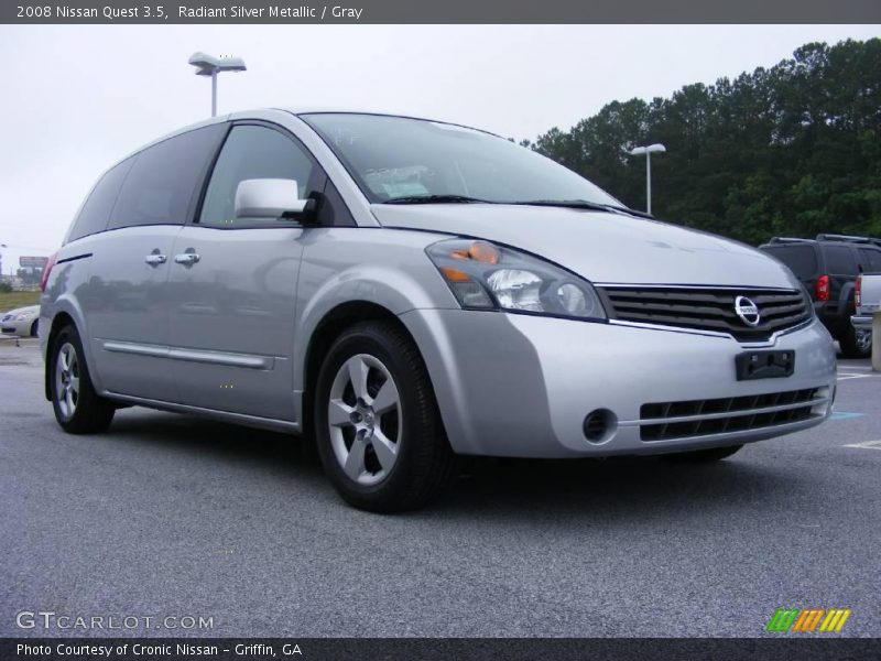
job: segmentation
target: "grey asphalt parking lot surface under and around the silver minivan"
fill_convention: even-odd
[[[66,435],[37,349],[8,343],[0,636],[119,633],[23,630],[23,610],[138,636],[761,636],[777,608],[836,607],[878,637],[879,476],[881,375],[842,360],[833,420],[726,462],[485,462],[381,517],[281,434],[135,408]]]

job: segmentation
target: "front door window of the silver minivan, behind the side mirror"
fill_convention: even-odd
[[[205,194],[202,225],[244,225],[236,218],[236,189],[251,178],[295,180],[301,199],[309,193],[314,166],[305,150],[287,136],[267,127],[235,127],[229,133]],[[265,223],[265,218],[255,218]]]

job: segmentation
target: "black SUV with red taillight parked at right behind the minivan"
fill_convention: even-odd
[[[855,330],[850,316],[857,275],[881,271],[881,239],[829,234],[816,239],[774,237],[759,249],[777,258],[802,281],[817,316],[846,357],[869,357],[871,333]]]

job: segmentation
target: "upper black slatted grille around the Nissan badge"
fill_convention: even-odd
[[[609,317],[623,322],[729,333],[740,342],[763,342],[811,318],[811,306],[797,290],[605,286]],[[758,326],[735,312],[746,296],[759,308]]]

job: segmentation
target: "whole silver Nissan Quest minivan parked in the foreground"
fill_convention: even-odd
[[[782,263],[407,117],[241,112],[141,149],[41,303],[66,431],[138,404],[308,433],[374,511],[425,503],[458,455],[720,459],[835,394]]]

